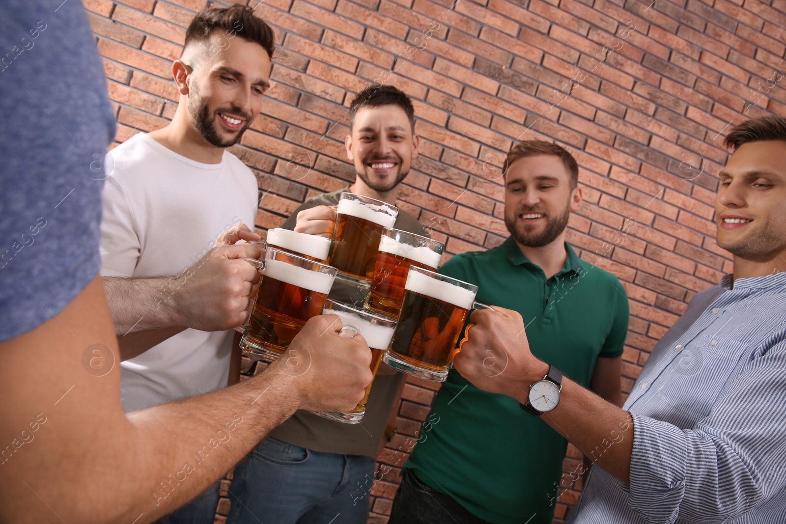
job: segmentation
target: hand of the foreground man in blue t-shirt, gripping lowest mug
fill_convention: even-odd
[[[287,377],[299,409],[341,412],[362,401],[373,379],[371,350],[361,335],[345,339],[337,315],[310,318],[280,359],[265,373]]]

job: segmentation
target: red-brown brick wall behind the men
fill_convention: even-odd
[[[712,222],[722,137],[747,117],[786,115],[786,0],[251,2],[277,36],[263,115],[232,149],[259,179],[258,229],[354,178],[345,106],[387,82],[413,97],[421,135],[398,204],[446,241],[446,256],[507,236],[498,167],[513,141],[545,138],[573,152],[586,201],[568,238],[630,297],[626,392],[692,296],[731,270]],[[177,100],[170,62],[206,0],[84,3],[116,140],[163,126]],[[407,383],[369,522],[387,521],[404,461],[394,452],[410,449],[434,393],[433,383]],[[579,461],[570,448],[565,471]],[[569,479],[555,522],[578,498],[580,481]]]

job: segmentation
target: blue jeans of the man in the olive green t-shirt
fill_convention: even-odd
[[[235,467],[226,524],[365,524],[375,464],[266,438]]]

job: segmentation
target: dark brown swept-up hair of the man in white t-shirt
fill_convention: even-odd
[[[185,31],[183,49],[193,42],[208,42],[216,29],[226,31],[231,35],[230,38],[239,36],[248,42],[258,43],[267,51],[268,57],[273,57],[276,49],[273,30],[259,16],[255,16],[254,10],[248,5],[240,4],[196,13]]]

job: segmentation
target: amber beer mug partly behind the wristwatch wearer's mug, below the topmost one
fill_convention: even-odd
[[[436,269],[445,244],[400,229],[382,230],[371,291],[366,307],[374,313],[398,318],[410,266]]]

